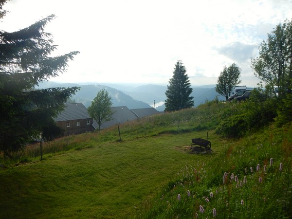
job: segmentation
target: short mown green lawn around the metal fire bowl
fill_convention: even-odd
[[[218,142],[212,143],[213,155],[187,152],[191,138],[205,134],[166,133],[104,143],[91,137],[88,148],[7,166],[0,170],[0,218],[133,218],[182,166],[219,152],[220,140],[212,132],[210,140]]]

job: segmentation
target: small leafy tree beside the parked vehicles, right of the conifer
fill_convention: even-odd
[[[234,87],[241,83],[241,80],[239,80],[240,72],[241,69],[233,63],[228,68],[224,66],[223,71],[218,77],[215,90],[222,96],[225,96],[226,101],[228,100]]]

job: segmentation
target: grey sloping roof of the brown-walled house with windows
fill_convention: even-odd
[[[76,120],[76,119],[90,119],[87,108],[82,103],[66,103],[64,111],[54,118],[55,122]]]

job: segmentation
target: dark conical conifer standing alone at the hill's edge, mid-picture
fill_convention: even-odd
[[[193,107],[194,97],[190,96],[192,91],[186,69],[182,61],[177,61],[173,76],[169,79],[169,85],[167,85],[165,92],[167,99],[165,100],[164,111],[175,111]]]

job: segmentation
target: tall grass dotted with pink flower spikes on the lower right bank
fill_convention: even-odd
[[[291,142],[290,125],[226,144],[214,159],[186,164],[139,218],[291,218]]]

